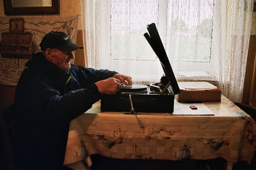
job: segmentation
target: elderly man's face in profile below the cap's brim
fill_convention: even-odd
[[[52,60],[56,66],[60,69],[68,70],[70,69],[70,60],[74,59],[72,52],[65,52],[58,49],[52,49]]]

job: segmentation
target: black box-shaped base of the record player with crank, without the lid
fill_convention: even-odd
[[[173,113],[174,95],[172,93],[151,93],[150,85],[147,89],[147,93],[119,92],[115,95],[104,95],[100,109],[101,111],[123,111],[125,113]]]

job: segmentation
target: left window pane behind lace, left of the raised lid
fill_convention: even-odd
[[[139,19],[138,19],[139,18]],[[111,59],[156,60],[143,34],[157,22],[158,1],[111,1]]]

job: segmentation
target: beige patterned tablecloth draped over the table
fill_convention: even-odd
[[[196,105],[196,104],[195,104]],[[204,103],[214,115],[126,115],[100,112],[100,103],[72,120],[68,133],[64,164],[86,169],[90,155],[117,159],[215,159],[251,162],[255,152],[256,126],[226,97],[221,103]],[[174,103],[174,112],[188,104]],[[183,113],[181,113],[183,114]]]

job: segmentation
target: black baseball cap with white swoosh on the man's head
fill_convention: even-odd
[[[72,40],[68,34],[60,31],[51,31],[48,34],[45,34],[44,38],[40,43],[42,51],[45,51],[46,48],[57,48],[66,52],[72,52],[83,46],[76,45],[72,43]]]

